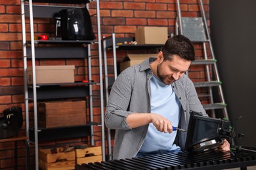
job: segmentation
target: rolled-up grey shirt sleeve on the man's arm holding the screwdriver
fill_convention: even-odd
[[[106,105],[105,124],[110,129],[131,129],[127,124],[126,118],[132,112],[129,109],[131,92],[133,90],[133,78],[123,71],[114,82]]]

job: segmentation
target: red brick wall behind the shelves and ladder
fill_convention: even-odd
[[[183,16],[198,16],[200,10],[196,5],[196,0],[181,0],[181,9]],[[208,12],[209,0],[203,1],[205,11]],[[90,6],[90,13],[95,13],[95,5]],[[207,14],[208,16],[208,14]],[[116,33],[116,37],[134,37],[137,27],[165,26],[168,27],[168,33],[175,33],[175,19],[177,17],[175,0],[126,0],[126,1],[100,1],[100,17],[102,37],[108,37],[112,33]],[[96,19],[92,18],[93,27],[96,33]],[[28,30],[28,21],[26,28]],[[51,36],[54,34],[54,23],[52,20],[35,20],[35,31],[46,33]],[[28,37],[29,38],[29,37]],[[96,48],[96,46],[93,48]],[[197,58],[202,58],[200,46],[196,45]],[[135,51],[117,51],[117,62],[126,54],[147,53],[146,50]],[[93,59],[93,78],[98,80],[98,59],[97,50],[92,51]],[[112,52],[108,51],[108,65],[113,65]],[[86,59],[43,59],[37,61],[37,64],[45,65],[75,65],[75,80],[83,80],[87,77],[84,70],[87,68]],[[110,74],[113,69],[110,70]],[[205,78],[202,67],[192,68],[192,80],[200,80]],[[24,87],[23,87],[23,58],[22,58],[22,33],[21,33],[21,17],[20,17],[20,0],[0,0],[0,112],[7,107],[19,106],[24,110]],[[95,87],[94,93],[98,93],[98,86]],[[96,101],[97,102],[97,101]],[[205,101],[207,102],[207,101]],[[94,108],[95,114],[99,114],[99,101]],[[30,104],[32,112],[33,105]],[[24,113],[23,113],[24,114]],[[25,118],[25,116],[23,115]],[[100,120],[100,116],[96,117]],[[95,127],[96,135],[100,136],[100,127]],[[25,134],[25,126],[20,129],[20,134]],[[100,137],[95,137],[96,145],[101,144]],[[43,145],[54,144],[73,144],[87,142],[89,139],[68,139],[64,141],[53,141],[51,143],[43,143]],[[112,141],[113,143],[113,141]],[[20,169],[25,169],[25,146],[18,143],[18,165]],[[31,146],[31,163],[34,163],[33,145]],[[106,150],[108,154],[108,150]],[[0,143],[0,169],[13,169],[14,165],[14,143]]]

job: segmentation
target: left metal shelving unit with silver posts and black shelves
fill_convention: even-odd
[[[99,0],[96,2],[96,19],[97,19],[97,40],[96,41],[37,41],[34,40],[34,18],[53,18],[54,12],[62,9],[71,8],[63,6],[66,4],[75,4],[72,8],[86,7],[88,0],[59,1],[59,0],[21,0],[21,16],[22,16],[22,44],[24,54],[24,95],[25,95],[25,112],[26,112],[26,134],[29,141],[35,145],[35,169],[39,169],[38,145],[40,141],[57,140],[72,137],[91,136],[91,144],[94,144],[93,126],[101,126],[102,132],[102,160],[105,160],[104,145],[104,103],[102,88],[102,55],[101,55],[101,35],[100,35],[100,7]],[[37,5],[35,3],[61,3],[62,5]],[[77,5],[80,5],[79,7]],[[88,7],[88,6],[87,6]],[[30,19],[30,30],[26,31],[26,18]],[[26,40],[26,35],[30,34],[30,41]],[[51,46],[40,46],[41,44],[51,44]],[[57,44],[55,47],[54,45]],[[61,46],[65,44],[65,46]],[[91,44],[98,44],[98,61],[99,61],[99,82],[74,82],[71,84],[36,84],[35,77],[35,61],[36,59],[68,59],[68,58],[85,58],[88,61],[88,76],[92,78],[91,73]],[[70,45],[70,47],[68,47]],[[44,52],[43,55],[42,52]],[[58,53],[57,53],[58,52]],[[70,57],[67,54],[72,54]],[[73,55],[75,53],[75,55]],[[46,55],[45,55],[46,54]],[[32,61],[33,84],[27,83],[26,70],[28,60]],[[68,86],[67,86],[68,85]],[[93,91],[92,86],[100,86],[100,116],[101,122],[93,122]],[[65,93],[64,93],[65,92]],[[70,126],[58,128],[39,128],[37,126],[37,100],[40,99],[64,99],[70,97],[88,97],[90,122],[84,126]],[[33,101],[33,124],[29,123],[29,101]],[[75,134],[73,133],[75,131]],[[33,132],[33,133],[32,133]],[[56,135],[58,134],[58,135]]]

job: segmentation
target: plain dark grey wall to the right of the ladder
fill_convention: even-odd
[[[256,147],[256,1],[210,0],[211,39],[240,146]]]

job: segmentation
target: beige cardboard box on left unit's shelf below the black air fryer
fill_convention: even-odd
[[[35,66],[36,84],[75,82],[75,65]],[[28,67],[28,84],[33,83],[32,67]]]

